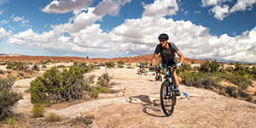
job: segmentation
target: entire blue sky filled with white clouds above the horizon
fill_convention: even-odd
[[[256,0],[0,0],[0,53],[132,57],[160,33],[185,58],[256,62]]]

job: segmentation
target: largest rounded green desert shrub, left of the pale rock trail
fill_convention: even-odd
[[[57,103],[83,99],[90,90],[83,78],[84,70],[70,66],[69,70],[58,71],[56,67],[46,70],[30,83],[32,103]]]

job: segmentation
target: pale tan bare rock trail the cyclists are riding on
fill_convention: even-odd
[[[256,104],[215,92],[180,86],[189,95],[178,97],[170,117],[160,107],[160,82],[154,75],[137,75],[137,69],[95,70],[96,78],[105,72],[113,76],[115,94],[100,94],[96,100],[79,103],[66,109],[49,109],[62,117],[75,118],[88,112],[96,114],[90,127],[256,127]],[[85,75],[85,76],[86,76]],[[26,80],[28,83],[31,80]],[[17,81],[16,85],[22,85]],[[24,84],[26,84],[25,81]],[[26,84],[27,85],[27,84]],[[23,86],[23,88],[26,88]],[[29,113],[30,95],[19,101],[16,112]]]

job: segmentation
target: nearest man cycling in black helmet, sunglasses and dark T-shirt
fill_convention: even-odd
[[[177,46],[172,43],[172,42],[168,42],[169,40],[169,36],[166,35],[166,33],[162,33],[160,34],[160,36],[158,36],[159,42],[160,44],[158,44],[155,47],[154,50],[154,55],[152,58],[152,68],[154,68],[154,64],[155,64],[155,59],[158,57],[159,53],[160,53],[160,57],[161,57],[161,64],[164,70],[164,73],[166,75],[166,68],[168,66],[176,66],[177,68],[181,65],[183,65],[183,53],[180,52],[180,50],[177,48]],[[177,64],[177,60],[176,60],[176,54],[179,56],[180,58],[180,62]],[[167,61],[168,60],[168,61]],[[168,62],[168,64],[166,64],[166,62]],[[176,69],[172,69],[171,70],[171,74],[175,83],[175,89],[176,89],[176,95],[180,96],[180,92],[179,92],[179,81],[177,79],[177,74],[176,74]]]

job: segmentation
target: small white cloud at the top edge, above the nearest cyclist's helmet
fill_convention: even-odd
[[[143,8],[145,8],[144,16],[166,16],[176,14],[178,10],[176,0],[155,0],[154,3],[145,4],[143,3]]]

